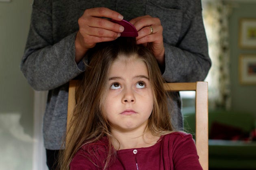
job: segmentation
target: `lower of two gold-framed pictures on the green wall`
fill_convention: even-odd
[[[256,85],[256,54],[240,55],[239,77],[242,85]]]

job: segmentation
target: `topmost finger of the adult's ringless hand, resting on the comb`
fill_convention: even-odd
[[[90,8],[85,10],[85,15],[93,16],[93,17],[106,17],[115,19],[117,21],[121,21],[124,17],[108,8],[100,7],[100,8]]]

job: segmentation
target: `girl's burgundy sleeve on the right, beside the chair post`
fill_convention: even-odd
[[[177,136],[172,154],[175,170],[202,170],[195,142],[190,134]]]

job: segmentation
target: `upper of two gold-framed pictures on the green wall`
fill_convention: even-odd
[[[256,48],[256,18],[240,19],[239,32],[239,46],[241,48]]]

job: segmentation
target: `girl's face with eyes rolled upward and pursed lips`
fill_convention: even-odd
[[[108,86],[105,108],[111,131],[145,130],[153,109],[146,64],[119,56],[110,68]]]

